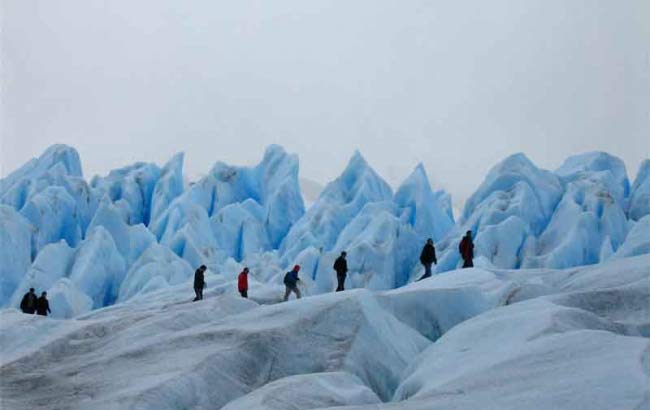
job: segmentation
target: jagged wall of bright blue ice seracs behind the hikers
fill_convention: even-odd
[[[630,185],[605,153],[570,157],[556,171],[517,154],[497,164],[458,223],[451,199],[422,165],[394,191],[359,152],[305,210],[298,158],[270,146],[250,167],[217,162],[184,183],[183,154],[86,181],[77,152],[56,145],[0,180],[0,307],[48,291],[55,317],[74,317],[192,280],[249,266],[281,284],[294,264],[311,295],[335,288],[348,253],[348,288],[388,290],[422,275],[427,238],[438,273],[456,269],[474,234],[475,266],[566,268],[650,252],[650,161]]]

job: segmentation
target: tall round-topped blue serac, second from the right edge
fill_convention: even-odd
[[[595,152],[568,158],[556,174],[564,194],[544,232],[526,249],[523,266],[565,268],[598,263],[601,256],[615,252],[627,235],[625,165]]]

